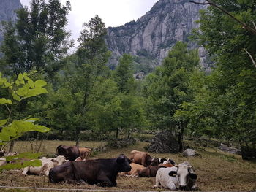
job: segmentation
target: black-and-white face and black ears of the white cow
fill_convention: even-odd
[[[181,190],[190,190],[197,179],[197,174],[192,172],[192,166],[189,164],[179,164],[177,171],[169,172],[169,176],[178,176],[179,188]]]

